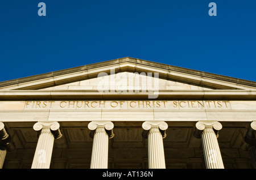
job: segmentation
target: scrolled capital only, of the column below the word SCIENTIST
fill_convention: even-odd
[[[218,131],[221,130],[222,125],[220,122],[218,121],[198,121],[196,123],[196,130],[194,132],[194,136],[196,138],[201,138],[201,133],[205,130],[205,129],[213,129],[213,131],[215,132],[217,138],[218,138]]]

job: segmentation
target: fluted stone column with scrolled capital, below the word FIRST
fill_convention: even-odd
[[[33,126],[39,132],[38,144],[31,169],[48,169],[51,164],[54,139],[61,138],[62,134],[57,122],[37,122]]]

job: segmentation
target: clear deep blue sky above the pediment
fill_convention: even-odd
[[[255,0],[2,0],[0,25],[0,82],[122,57],[256,81]]]

